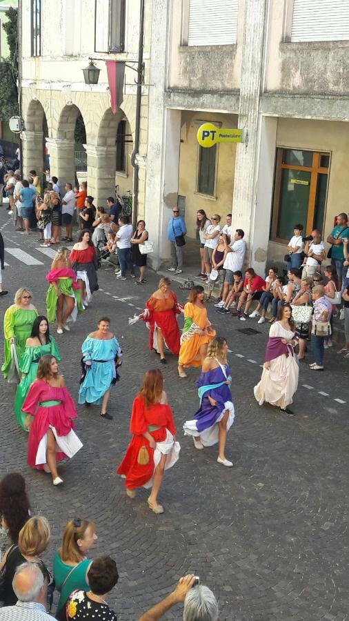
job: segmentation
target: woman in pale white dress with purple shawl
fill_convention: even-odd
[[[280,304],[277,321],[269,331],[261,381],[255,386],[254,393],[259,405],[266,401],[293,415],[288,406],[297,391],[299,368],[293,352],[297,340],[291,313],[290,304]]]

